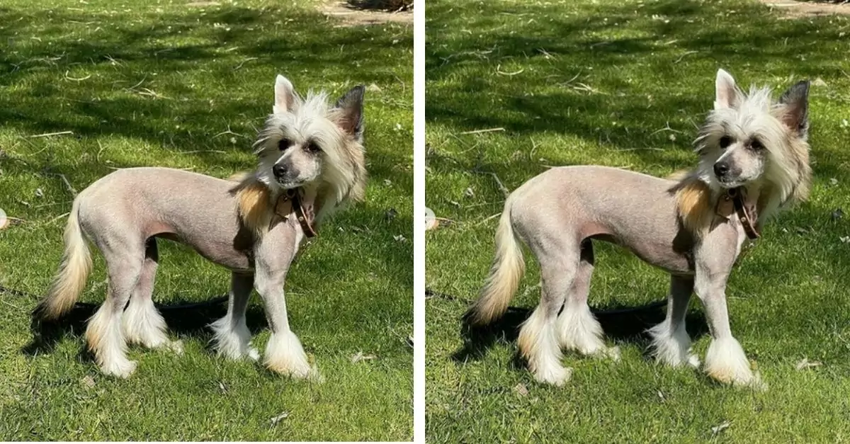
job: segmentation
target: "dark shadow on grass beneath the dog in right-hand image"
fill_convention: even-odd
[[[602,307],[592,311],[602,325],[605,339],[618,345],[638,344],[643,350],[648,350],[651,338],[647,330],[664,320],[665,307],[663,303],[653,303],[638,307]],[[461,327],[463,344],[451,355],[451,360],[457,363],[479,361],[497,342],[515,343],[519,327],[530,314],[530,309],[509,307],[499,321],[485,327],[473,327],[464,317]],[[708,333],[706,317],[701,311],[689,310],[685,325],[691,339]],[[649,359],[647,351],[644,351],[644,357]],[[514,356],[513,365],[523,366],[519,353]]]

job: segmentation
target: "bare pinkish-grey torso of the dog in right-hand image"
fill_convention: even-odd
[[[514,229],[524,242],[533,242],[529,246],[535,250],[598,238],[620,244],[670,273],[693,274],[694,236],[683,230],[677,217],[677,199],[671,192],[675,185],[617,168],[552,168],[514,191]],[[524,232],[524,227],[534,227],[534,232]],[[551,235],[541,235],[547,229]],[[566,240],[564,233],[575,237]]]

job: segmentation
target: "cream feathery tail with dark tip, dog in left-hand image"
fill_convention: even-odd
[[[32,314],[41,320],[53,320],[64,315],[86,286],[88,272],[92,269],[92,257],[82,234],[79,221],[80,197],[71,206],[71,215],[65,225],[65,253],[62,264],[54,277],[48,295],[38,303]]]

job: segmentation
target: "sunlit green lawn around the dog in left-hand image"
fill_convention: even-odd
[[[252,139],[279,72],[303,92],[370,87],[371,182],[364,203],[303,248],[286,281],[290,322],[323,384],[213,356],[203,326],[220,306],[170,316],[184,356],[131,349],[138,370],[111,379],[82,353],[79,325],[53,350],[27,348],[37,299],[0,293],[0,439],[411,439],[411,26],[342,27],[307,0],[51,3],[0,6],[0,208],[23,219],[0,231],[3,286],[42,294],[59,264],[72,195],[57,174],[80,191],[113,168],[222,178],[253,168]],[[72,134],[31,137],[60,131]],[[226,292],[227,270],[171,242],[160,248],[157,302]],[[99,303],[95,256],[82,300]],[[256,297],[248,325],[262,349],[269,333]],[[376,358],[352,362],[359,352]],[[288,418],[273,425],[281,413]]]

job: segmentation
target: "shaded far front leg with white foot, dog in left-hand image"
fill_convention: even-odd
[[[245,312],[253,286],[253,275],[235,272],[232,274],[227,314],[210,324],[215,332],[214,348],[218,355],[229,359],[241,359],[245,356],[254,361],[259,359],[259,353],[251,346],[251,331],[245,323]]]

